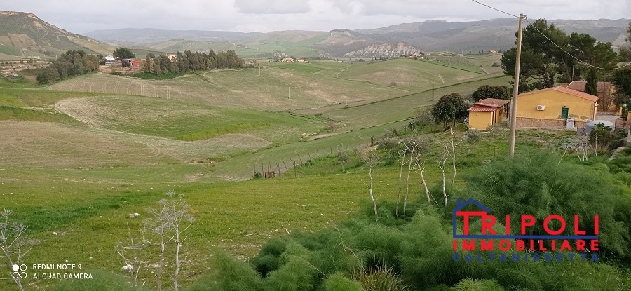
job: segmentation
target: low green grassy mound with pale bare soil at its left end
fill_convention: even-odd
[[[304,130],[324,128],[322,121],[310,116],[226,109],[151,97],[65,99],[55,107],[93,128],[174,140],[206,140],[219,135],[250,133],[270,142],[287,142],[298,140]]]

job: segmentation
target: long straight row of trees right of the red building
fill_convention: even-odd
[[[234,50],[215,53],[210,50],[207,53],[192,53],[185,50],[177,52],[175,60],[170,60],[166,55],[156,57],[153,53],[147,54],[142,62],[142,72],[151,74],[185,73],[208,69],[236,69],[244,67],[243,59],[240,59]]]

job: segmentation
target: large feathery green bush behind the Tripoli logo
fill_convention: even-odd
[[[496,217],[531,214],[543,221],[550,214],[579,215],[581,226],[593,234],[599,215],[599,255],[631,258],[631,203],[613,183],[609,172],[594,167],[559,163],[555,154],[535,153],[501,158],[466,177],[473,198],[493,210]],[[512,226],[513,233],[519,233]],[[530,234],[545,234],[541,224]],[[564,234],[570,235],[567,228]]]

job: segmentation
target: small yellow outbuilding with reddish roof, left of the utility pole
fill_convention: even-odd
[[[494,123],[501,122],[510,100],[487,98],[469,107],[469,128],[484,130]]]

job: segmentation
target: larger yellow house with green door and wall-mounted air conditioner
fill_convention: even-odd
[[[561,86],[522,93],[517,97],[517,128],[583,127],[596,119],[597,103],[597,96]]]

